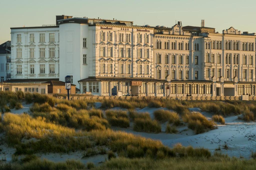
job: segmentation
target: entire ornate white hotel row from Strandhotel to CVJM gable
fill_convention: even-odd
[[[55,26],[11,28],[8,82],[71,75],[80,93],[94,95],[254,96],[255,38],[204,21],[166,28],[56,16]]]

